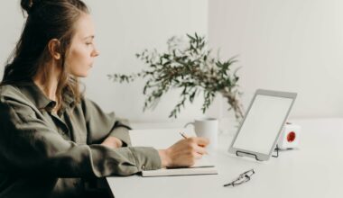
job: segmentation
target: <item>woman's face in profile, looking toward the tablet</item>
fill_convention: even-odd
[[[94,58],[99,55],[94,43],[94,24],[90,15],[81,14],[75,28],[66,62],[72,75],[85,77],[93,66]]]

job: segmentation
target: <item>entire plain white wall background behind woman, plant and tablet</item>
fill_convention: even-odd
[[[131,121],[175,121],[168,115],[180,90],[143,112],[144,81],[114,84],[107,74],[140,71],[143,49],[166,49],[174,35],[199,32],[236,67],[247,108],[255,89],[297,92],[292,118],[341,117],[343,108],[343,2],[341,0],[101,0],[85,1],[96,23],[100,56],[83,79],[87,96],[106,112]],[[22,30],[19,1],[0,6],[0,62],[5,65]],[[0,74],[3,67],[0,67]],[[199,95],[178,121],[203,116]],[[218,97],[208,116],[232,117]]]

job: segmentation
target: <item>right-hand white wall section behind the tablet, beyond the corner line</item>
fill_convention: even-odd
[[[239,55],[245,103],[277,89],[298,92],[292,117],[343,116],[341,0],[211,0],[209,40]]]

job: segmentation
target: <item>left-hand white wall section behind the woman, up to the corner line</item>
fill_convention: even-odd
[[[154,111],[143,113],[143,81],[119,85],[110,82],[107,74],[140,71],[144,63],[134,54],[143,49],[166,49],[166,40],[173,35],[208,31],[207,0],[87,0],[96,23],[96,42],[100,51],[88,78],[86,94],[107,112],[132,121],[167,120],[178,102],[179,92],[166,95]],[[0,6],[0,61],[5,62],[20,35],[23,16],[19,1]],[[2,64],[4,65],[4,64]],[[2,75],[3,67],[0,69]],[[201,100],[187,105],[181,119],[200,116]]]

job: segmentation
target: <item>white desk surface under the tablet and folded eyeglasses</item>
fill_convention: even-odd
[[[219,137],[211,157],[218,175],[170,177],[107,177],[116,198],[125,197],[343,197],[343,119],[293,121],[301,125],[299,150],[283,151],[279,157],[257,162],[227,154],[232,135]],[[237,175],[255,169],[251,181],[223,187]]]

